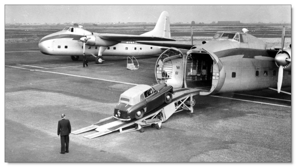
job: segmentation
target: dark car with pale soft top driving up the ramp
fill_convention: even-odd
[[[143,118],[144,113],[163,103],[172,102],[173,94],[173,86],[165,83],[134,86],[120,95],[113,117],[121,121],[130,121],[134,118],[139,120]]]

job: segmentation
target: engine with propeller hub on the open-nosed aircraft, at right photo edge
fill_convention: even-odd
[[[276,65],[283,66],[284,71],[291,72],[292,65],[291,65],[291,47],[287,47],[283,49],[283,51],[279,51],[274,58]]]

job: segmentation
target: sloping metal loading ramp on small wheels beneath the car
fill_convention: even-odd
[[[170,116],[173,113],[177,113],[183,110],[190,110],[191,116],[192,116],[193,106],[195,104],[193,96],[199,93],[200,93],[200,89],[181,89],[181,90],[175,91],[175,94],[173,95],[173,100],[170,104],[164,103],[159,107],[156,107],[152,111],[145,113],[143,118],[139,120],[133,119],[131,121],[120,121],[111,116],[111,117],[102,119],[91,126],[73,131],[72,134],[81,134],[91,130],[98,131],[96,133],[84,136],[87,139],[93,139],[95,137],[99,137],[104,134],[108,134],[117,130],[119,130],[120,133],[125,133],[133,130],[140,130],[141,125],[139,126],[139,122],[143,120],[145,121],[149,119],[151,120],[151,119],[159,118],[160,122],[165,122],[168,120],[168,118],[170,118]],[[160,122],[157,122],[159,127],[161,125],[159,124]],[[132,127],[132,126],[134,127],[133,129],[123,130],[124,128]]]

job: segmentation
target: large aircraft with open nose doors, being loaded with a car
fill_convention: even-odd
[[[201,88],[200,95],[291,86],[291,44],[269,45],[247,33],[220,31],[200,46],[138,41],[171,47],[156,62],[159,83]],[[178,49],[177,49],[178,48]],[[188,49],[182,51],[181,49]]]

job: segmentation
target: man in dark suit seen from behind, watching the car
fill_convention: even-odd
[[[69,152],[69,134],[71,133],[71,125],[68,119],[65,119],[65,114],[62,114],[62,120],[57,125],[57,135],[61,135],[61,154]],[[66,144],[66,150],[65,150]]]

